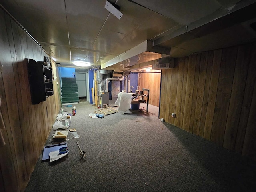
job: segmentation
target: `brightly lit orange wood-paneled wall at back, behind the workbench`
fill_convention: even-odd
[[[159,107],[161,73],[139,73],[138,85],[149,89],[149,104]],[[147,94],[147,93],[145,93]]]

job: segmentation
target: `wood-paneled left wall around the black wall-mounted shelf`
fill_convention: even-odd
[[[42,61],[47,54],[8,14],[0,9],[0,107],[6,145],[0,147],[0,191],[23,191],[60,109],[54,96],[32,105],[26,59]],[[55,67],[53,64],[52,67]]]

